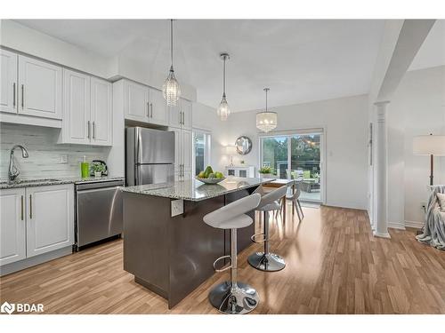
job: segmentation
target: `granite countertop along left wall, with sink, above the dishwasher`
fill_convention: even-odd
[[[124,177],[102,176],[101,178],[94,178],[94,177],[19,178],[12,182],[10,182],[7,179],[0,179],[0,189],[61,185],[61,184],[82,184],[82,183],[93,183],[98,181],[109,181],[109,180],[119,180],[119,179],[124,179]]]

